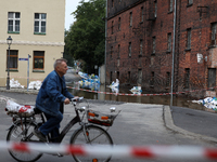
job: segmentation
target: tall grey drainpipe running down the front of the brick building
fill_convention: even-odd
[[[171,94],[170,94],[170,106],[173,106],[173,93],[174,93],[174,59],[175,59],[175,42],[176,42],[176,10],[177,0],[174,0],[174,38],[173,38],[173,65],[171,65]]]

